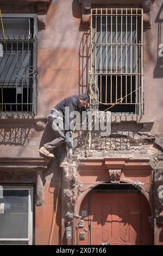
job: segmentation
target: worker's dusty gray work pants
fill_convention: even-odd
[[[65,143],[64,122],[60,117],[48,117],[48,124],[53,129],[55,139],[43,146],[48,150],[52,150]]]

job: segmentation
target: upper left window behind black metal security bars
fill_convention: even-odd
[[[35,113],[36,36],[34,18],[3,18],[0,57],[1,112]]]

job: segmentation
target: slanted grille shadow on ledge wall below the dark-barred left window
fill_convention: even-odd
[[[0,145],[20,145],[26,144],[30,127],[3,127],[0,129]]]

